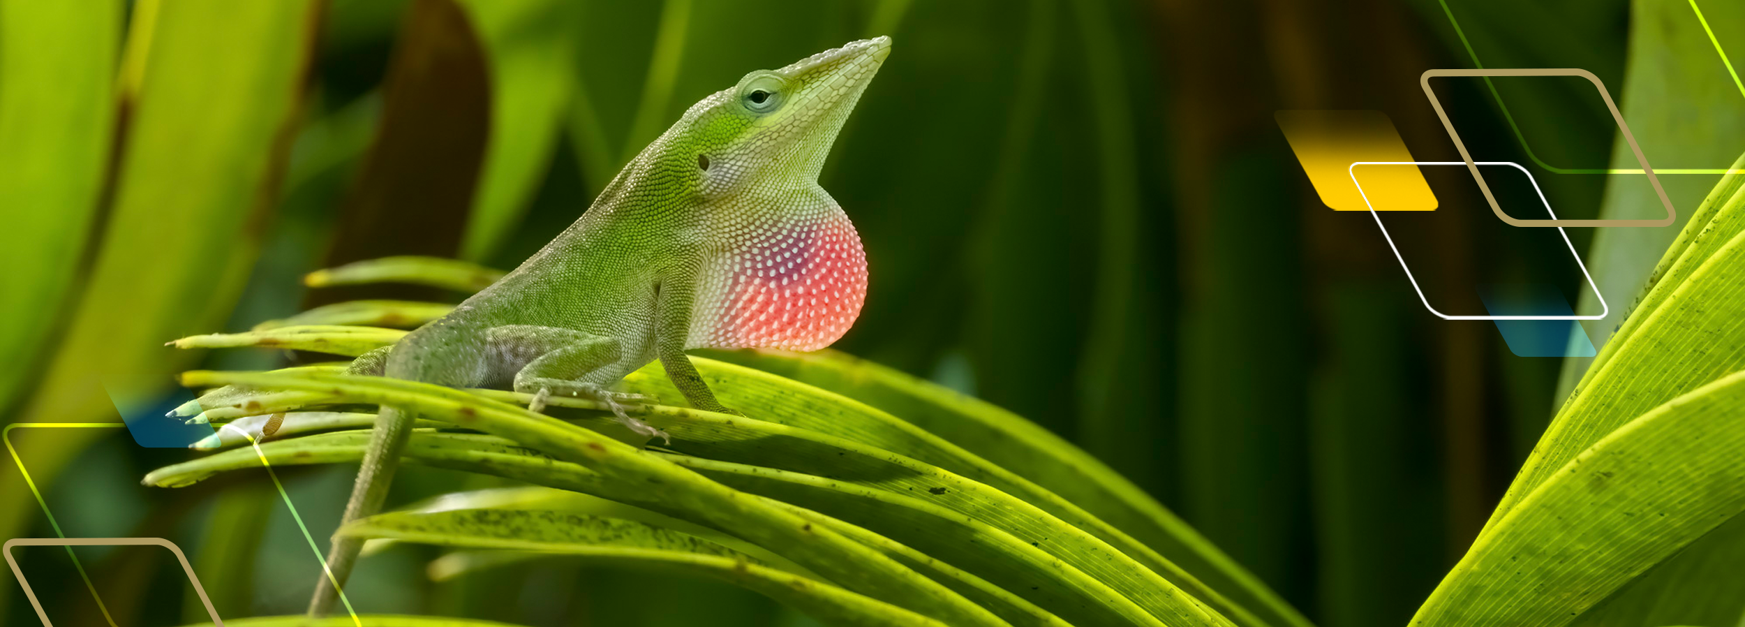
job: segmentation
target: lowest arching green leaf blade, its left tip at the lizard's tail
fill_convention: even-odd
[[[340,534],[466,548],[508,548],[726,580],[831,625],[944,625],[839,587],[778,571],[726,547],[633,520],[537,510],[382,513]]]

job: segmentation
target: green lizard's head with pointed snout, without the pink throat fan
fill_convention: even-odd
[[[778,70],[747,73],[686,112],[674,129],[689,127],[693,141],[675,141],[674,148],[689,154],[668,157],[695,162],[698,187],[707,196],[738,190],[752,180],[782,187],[815,183],[831,143],[888,54],[890,37],[874,37]]]

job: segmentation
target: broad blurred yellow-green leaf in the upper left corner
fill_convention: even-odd
[[[115,122],[122,2],[0,2],[0,407],[40,374],[79,285]]]

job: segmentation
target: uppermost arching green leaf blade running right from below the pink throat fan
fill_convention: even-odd
[[[1084,512],[1089,512],[1099,522],[1106,520],[1119,529],[1119,533],[1106,533],[1094,524],[1082,524],[1082,527],[1096,533],[1099,538],[1127,550],[1127,545],[1120,541],[1124,538],[1120,533],[1126,533],[1155,550],[1155,554],[1160,554],[1162,557],[1159,559],[1167,557],[1167,562],[1185,569],[1190,578],[1183,582],[1171,576],[1166,568],[1153,566],[1160,568],[1160,575],[1211,603],[1213,608],[1225,611],[1239,624],[1246,624],[1244,613],[1248,611],[1260,615],[1258,620],[1267,624],[1293,625],[1304,622],[1295,608],[1279,599],[1255,575],[1235,564],[1162,503],[1157,503],[1150,494],[1145,494],[1138,486],[1084,452],[1084,449],[1017,414],[838,351],[705,351],[705,355],[829,389],[900,416],[904,421],[935,437],[935,440],[961,444],[974,456],[986,459],[989,466],[1009,468],[1024,480],[1035,482],[1040,489],[1059,494],[1059,498],[1084,508]],[[695,362],[705,374],[726,372],[705,360]],[[717,389],[724,395],[722,398],[728,398],[726,395],[729,393],[740,393],[742,384],[743,381],[735,381],[731,386],[717,386]],[[745,407],[784,407],[790,403],[787,400],[790,395],[790,391],[780,389],[757,396],[756,402],[749,402]],[[829,419],[815,421],[822,424],[808,423],[806,426],[855,438],[855,435],[841,433],[832,426],[839,421],[836,414],[841,410],[832,407],[831,412],[827,414]],[[897,452],[932,459],[946,468],[956,466],[944,461],[944,458],[920,454],[909,445],[890,444],[890,447]],[[1000,486],[993,480],[989,484]],[[1030,491],[1009,491],[1031,500]],[[1031,503],[1057,513],[1054,506],[1047,505],[1047,500],[1031,500]],[[1127,552],[1134,554],[1134,557],[1146,554],[1146,550]],[[1204,594],[1206,590],[1216,590],[1216,594],[1228,597],[1230,604],[1218,604],[1215,601],[1216,594]]]

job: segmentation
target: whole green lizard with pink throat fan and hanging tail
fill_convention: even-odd
[[[684,112],[586,213],[527,262],[400,342],[365,353],[352,374],[455,388],[511,388],[543,410],[553,395],[606,402],[611,386],[661,360],[691,407],[729,412],[684,355],[693,348],[829,346],[860,314],[860,236],[818,187],[818,169],[890,38],[853,42],[780,70],[752,72]],[[414,416],[382,407],[344,522],[375,513]],[[361,540],[333,538],[326,615]]]

